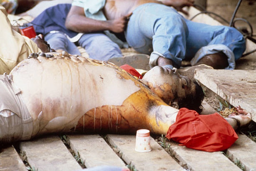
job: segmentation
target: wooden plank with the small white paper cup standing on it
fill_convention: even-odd
[[[120,151],[121,158],[136,170],[184,170],[152,137],[152,151],[144,153],[135,151],[135,135],[107,135],[107,138]]]

